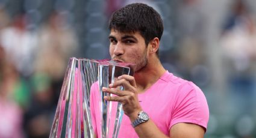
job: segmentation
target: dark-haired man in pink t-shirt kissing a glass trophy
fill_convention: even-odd
[[[109,28],[111,58],[132,63],[134,71],[134,76],[120,76],[102,88],[117,95],[105,100],[122,103],[119,137],[204,137],[209,118],[204,94],[192,82],[164,70],[158,58],[163,22],[157,11],[146,4],[126,5],[112,14]],[[92,86],[90,109],[99,136],[96,89]]]

